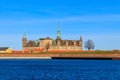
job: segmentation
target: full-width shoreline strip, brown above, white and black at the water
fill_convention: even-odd
[[[120,54],[0,54],[0,59],[100,59],[120,60]]]

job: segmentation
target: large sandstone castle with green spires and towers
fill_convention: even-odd
[[[60,27],[58,27],[57,38],[53,40],[50,37],[40,38],[39,40],[27,40],[26,34],[22,38],[22,50],[33,51],[81,51],[82,37],[79,40],[62,40]]]

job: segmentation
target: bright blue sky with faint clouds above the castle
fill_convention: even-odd
[[[120,49],[119,0],[0,0],[0,47],[22,49],[28,40],[91,39],[95,50]]]

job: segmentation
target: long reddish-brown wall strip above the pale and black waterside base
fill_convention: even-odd
[[[0,53],[0,57],[79,57],[79,58],[120,58],[120,54],[30,54],[30,53]]]

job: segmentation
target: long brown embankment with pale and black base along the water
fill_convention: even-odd
[[[1,53],[0,58],[111,58],[111,59],[120,59],[120,54],[37,54],[37,53],[12,53],[5,54]]]

